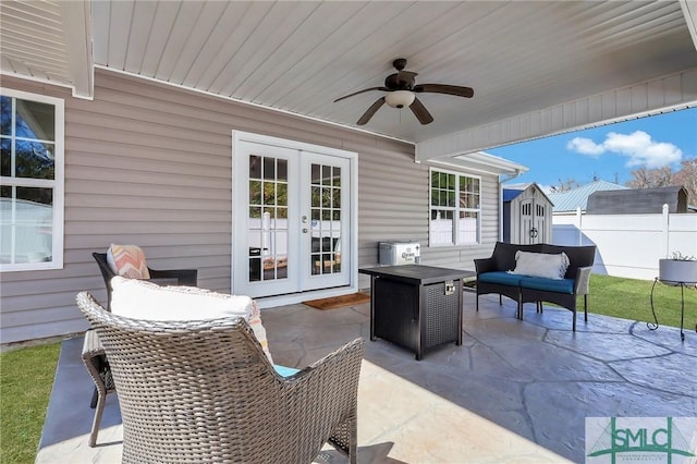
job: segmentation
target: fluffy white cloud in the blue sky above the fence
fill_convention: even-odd
[[[610,132],[600,145],[589,138],[576,137],[566,144],[566,149],[595,158],[606,151],[622,155],[628,158],[625,163],[627,168],[662,168],[680,161],[683,157],[682,150],[675,145],[656,142],[644,131],[632,134]]]

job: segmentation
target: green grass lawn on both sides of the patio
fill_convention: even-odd
[[[590,277],[590,313],[653,321],[652,281]],[[661,326],[680,327],[681,289],[661,283],[653,295]],[[583,300],[579,301],[583,308]],[[697,290],[685,289],[685,330],[697,320]],[[56,375],[60,343],[0,354],[0,463],[33,463]]]

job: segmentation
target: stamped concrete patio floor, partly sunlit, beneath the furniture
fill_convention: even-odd
[[[463,345],[420,362],[367,341],[358,391],[360,463],[584,462],[586,417],[697,417],[697,333],[572,314],[465,292]],[[694,314],[688,310],[692,323]],[[262,312],[274,362],[304,367],[356,337],[369,339],[369,305]],[[659,315],[660,318],[660,315]],[[660,319],[659,319],[660,320]],[[689,325],[687,325],[689,327]],[[109,395],[96,448],[87,445],[93,384],[82,338],[63,342],[37,463],[112,463],[121,417]],[[689,439],[688,439],[689,440]],[[316,462],[346,460],[330,447]]]

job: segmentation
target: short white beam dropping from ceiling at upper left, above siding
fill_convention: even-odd
[[[59,4],[73,97],[91,100],[95,96],[91,0],[62,1]]]

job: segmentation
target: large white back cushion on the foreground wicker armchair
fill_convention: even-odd
[[[256,302],[245,295],[216,293],[197,286],[159,286],[144,280],[111,279],[111,312],[144,320],[206,320],[244,317],[273,364]]]

